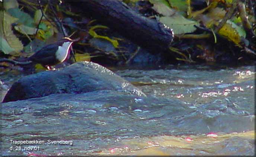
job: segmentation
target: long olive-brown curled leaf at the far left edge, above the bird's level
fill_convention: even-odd
[[[17,55],[17,52],[20,52],[20,50],[23,49],[22,43],[12,32],[12,23],[16,21],[16,18],[10,16],[4,11],[0,11],[0,37],[2,38],[3,42],[6,42],[10,48],[15,50],[11,53],[8,51],[10,49],[7,47],[5,53],[9,53],[10,55]],[[5,45],[7,45],[6,43]]]

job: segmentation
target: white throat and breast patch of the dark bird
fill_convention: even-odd
[[[63,62],[68,56],[68,50],[70,49],[72,43],[73,42],[64,42],[62,46],[59,46],[55,54],[56,59],[58,59],[60,62]]]

